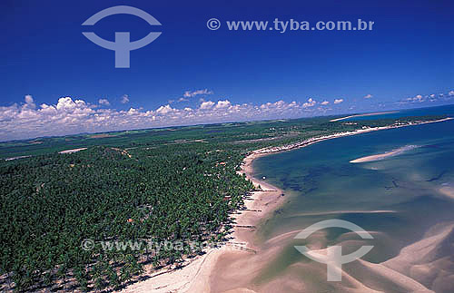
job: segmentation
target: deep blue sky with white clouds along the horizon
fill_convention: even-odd
[[[131,52],[131,68],[114,68],[114,52],[82,34],[88,17],[114,5],[140,8],[163,24],[111,15],[89,28],[112,41],[114,32],[131,32],[132,40],[162,32]],[[0,8],[2,140],[454,100],[452,1],[4,0]],[[207,28],[212,17],[219,30]],[[360,18],[374,26],[281,34],[225,24],[275,18]]]

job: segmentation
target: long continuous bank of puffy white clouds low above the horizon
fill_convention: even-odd
[[[103,103],[98,101],[98,104]],[[42,103],[33,107],[35,102],[30,96],[25,98],[25,103],[0,106],[0,137],[3,140],[13,140],[197,123],[299,118],[314,115],[318,110],[308,105],[315,103],[313,99],[305,103],[277,101],[262,104],[235,104],[221,100],[202,102],[197,108],[178,109],[165,104],[156,110],[130,108],[120,111],[95,107],[72,97],[62,97],[55,103]]]

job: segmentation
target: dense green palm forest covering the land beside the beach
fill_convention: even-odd
[[[202,249],[100,241],[222,241],[253,188],[236,172],[248,151],[395,122],[313,118],[0,143],[4,158],[32,155],[0,161],[0,290],[119,288],[145,265],[178,264]],[[78,147],[87,149],[57,153]]]

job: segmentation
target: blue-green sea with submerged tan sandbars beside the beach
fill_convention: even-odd
[[[441,107],[429,114],[453,110]],[[400,151],[379,161],[350,162],[396,150]],[[254,177],[265,176],[284,190],[287,201],[263,220],[256,233],[259,256],[262,253],[267,260],[254,272],[250,288],[452,292],[454,121],[320,142],[262,157],[253,168]],[[294,239],[300,230],[330,219],[357,224],[373,239],[339,228]],[[326,265],[301,255],[295,245],[310,249],[341,245],[344,255],[362,245],[374,248],[361,261],[342,267],[341,282],[328,282]]]

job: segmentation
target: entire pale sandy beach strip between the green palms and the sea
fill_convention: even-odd
[[[282,190],[271,184],[264,182],[252,176],[252,161],[272,153],[281,151],[291,151],[300,149],[317,142],[323,142],[339,137],[356,135],[367,132],[377,132],[387,129],[395,129],[400,127],[414,126],[420,124],[445,122],[453,120],[453,118],[444,118],[429,122],[410,122],[403,125],[390,125],[382,127],[373,127],[360,129],[351,132],[339,132],[321,137],[314,137],[302,142],[295,142],[281,147],[267,147],[255,151],[251,151],[242,161],[242,170],[237,171],[239,174],[245,173],[246,178],[254,184],[260,185],[262,190],[252,191],[251,197],[244,199],[244,209],[238,213],[232,214],[232,219],[236,221],[232,231],[232,238],[221,248],[207,249],[201,257],[187,261],[187,265],[183,269],[168,269],[167,271],[154,271],[150,278],[144,281],[137,282],[126,288],[122,292],[210,292],[210,281],[212,270],[215,268],[218,259],[227,252],[242,251],[251,253],[254,251],[252,239],[255,235],[254,229],[244,229],[240,226],[254,226],[272,210],[276,210],[283,201],[285,196],[281,196]],[[260,211],[255,211],[260,210]]]

